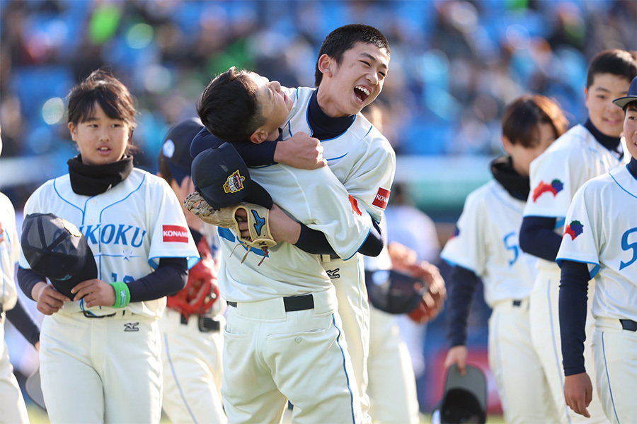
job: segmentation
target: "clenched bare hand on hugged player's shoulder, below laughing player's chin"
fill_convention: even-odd
[[[323,159],[321,141],[304,132],[298,132],[286,141],[279,141],[274,160],[303,170],[314,170],[327,165],[327,160]]]

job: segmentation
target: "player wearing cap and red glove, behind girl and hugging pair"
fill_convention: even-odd
[[[180,203],[195,190],[190,178],[190,142],[203,128],[199,119],[173,125],[159,153],[159,176]],[[201,260],[188,272],[188,283],[168,296],[159,319],[163,363],[162,407],[173,423],[226,423],[221,399],[223,301],[217,285],[217,264],[211,242],[218,246],[212,225],[185,213]]]

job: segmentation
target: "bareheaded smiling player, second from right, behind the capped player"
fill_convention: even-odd
[[[563,393],[561,342],[558,322],[560,269],[555,263],[570,201],[587,180],[624,163],[621,143],[623,112],[612,100],[626,95],[637,75],[634,54],[613,49],[599,52],[591,61],[586,81],[589,119],[575,125],[533,161],[531,192],[524,207],[520,247],[538,257],[538,274],[531,293],[530,317],[533,346],[541,360],[558,413],[554,420],[572,423],[583,419],[566,407]],[[592,319],[587,322],[585,358],[589,361]],[[597,394],[593,393],[590,420],[605,422]]]

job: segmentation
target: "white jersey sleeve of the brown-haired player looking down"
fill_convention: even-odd
[[[444,245],[440,257],[449,264],[473,271],[476,276],[485,272],[487,240],[484,235],[486,216],[483,203],[476,192],[467,196],[454,234]]]

